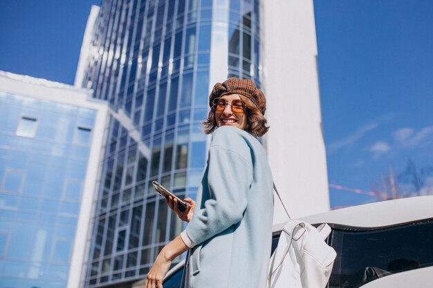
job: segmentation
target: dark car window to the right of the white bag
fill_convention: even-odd
[[[433,266],[433,220],[383,229],[333,227],[337,251],[330,288],[351,288],[411,269]]]

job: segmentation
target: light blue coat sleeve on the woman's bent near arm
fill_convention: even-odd
[[[248,191],[252,183],[252,160],[236,150],[247,149],[236,140],[229,146],[210,146],[208,163],[208,188],[210,199],[196,207],[194,216],[186,229],[187,235],[197,244],[212,238],[242,220],[248,204]],[[243,144],[243,145],[242,145]],[[233,148],[233,149],[232,149]],[[248,153],[250,155],[250,153]],[[203,188],[204,189],[204,188]]]

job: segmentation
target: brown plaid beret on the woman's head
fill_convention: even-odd
[[[251,100],[252,103],[259,108],[261,114],[265,115],[266,98],[263,92],[250,79],[229,78],[223,83],[216,83],[209,95],[209,106],[212,108],[212,103],[216,97],[223,97],[229,94],[241,94]]]

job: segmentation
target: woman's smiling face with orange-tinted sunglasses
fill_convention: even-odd
[[[245,130],[247,126],[247,117],[245,104],[242,104],[243,109],[240,109],[239,107],[239,104],[241,103],[242,99],[239,94],[230,94],[220,97],[219,108],[215,109],[216,126],[234,126]],[[234,109],[232,108],[233,105],[235,105]]]

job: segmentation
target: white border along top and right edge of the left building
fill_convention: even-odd
[[[48,81],[30,76],[17,75],[0,71],[1,91],[15,95],[23,95],[50,102],[91,108],[97,112],[95,126],[93,126],[92,143],[84,182],[80,215],[77,221],[75,242],[73,243],[72,259],[69,269],[67,288],[80,287],[80,280],[84,278],[84,262],[88,256],[86,241],[90,236],[91,213],[95,185],[98,180],[98,169],[102,158],[102,146],[105,143],[104,133],[108,123],[109,108],[101,100],[91,98],[91,91],[75,88],[67,84]]]

